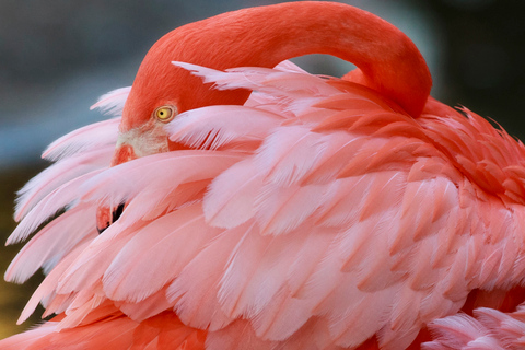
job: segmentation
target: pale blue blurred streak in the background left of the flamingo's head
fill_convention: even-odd
[[[0,168],[27,165],[37,161],[43,150],[55,139],[81,126],[104,119],[90,110],[98,95],[132,81],[136,65],[120,65],[115,69],[102,67],[81,71],[56,82],[45,101],[15,105],[0,128]],[[129,84],[129,83],[128,83]],[[19,110],[16,110],[19,108]]]

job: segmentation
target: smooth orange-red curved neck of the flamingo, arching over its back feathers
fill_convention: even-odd
[[[171,61],[214,69],[272,68],[284,59],[308,54],[328,54],[354,63],[366,85],[398,103],[412,117],[421,114],[432,80],[413,43],[386,21],[335,2],[250,8],[182,26],[151,48],[133,89],[142,84],[143,93],[148,86],[151,89],[151,82],[142,81],[145,77],[165,77],[163,93],[176,95],[182,110],[219,103],[242,104],[246,93],[210,91],[209,85],[202,88],[199,79],[173,67]]]

